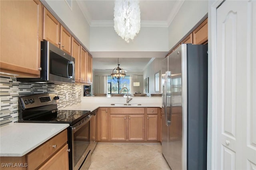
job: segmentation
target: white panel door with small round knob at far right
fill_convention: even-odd
[[[216,167],[256,168],[256,1],[217,9]]]

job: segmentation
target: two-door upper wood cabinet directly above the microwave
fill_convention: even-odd
[[[72,35],[44,7],[43,39],[71,55]]]

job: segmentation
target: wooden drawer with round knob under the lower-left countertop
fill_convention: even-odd
[[[57,152],[68,141],[67,130],[52,137],[27,154],[28,170],[34,170]],[[56,147],[55,147],[56,146]]]

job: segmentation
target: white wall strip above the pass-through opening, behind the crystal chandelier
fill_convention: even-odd
[[[126,43],[114,27],[91,27],[90,51],[168,51],[167,27],[141,27],[140,32]]]

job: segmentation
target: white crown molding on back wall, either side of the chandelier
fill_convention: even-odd
[[[96,21],[90,22],[90,27],[114,27],[114,21]],[[140,21],[140,27],[168,27],[166,21]]]

